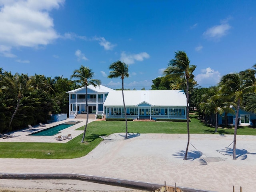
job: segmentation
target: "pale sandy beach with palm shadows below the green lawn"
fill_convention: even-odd
[[[0,159],[2,173],[75,173],[183,186],[200,190],[251,192],[256,189],[256,136],[116,133],[88,155],[75,159]],[[230,145],[231,144],[231,145]],[[229,148],[228,148],[229,146]],[[0,180],[0,191],[133,191],[77,180]],[[136,191],[136,190],[134,190]]]

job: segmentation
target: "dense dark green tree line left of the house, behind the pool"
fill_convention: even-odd
[[[0,132],[45,123],[51,114],[67,113],[66,91],[76,87],[62,76],[12,74],[0,68]]]

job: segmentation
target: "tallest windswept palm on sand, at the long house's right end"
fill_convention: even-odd
[[[184,51],[175,52],[175,59],[170,60],[168,63],[168,67],[164,70],[164,75],[166,78],[184,78],[186,80],[186,97],[187,97],[187,109],[186,109],[186,116],[187,116],[187,130],[188,130],[188,143],[186,148],[186,153],[184,160],[187,160],[188,154],[188,146],[189,146],[189,81],[190,78],[193,78],[194,75],[192,74],[196,69],[195,65],[190,65],[190,60]],[[184,90],[185,91],[185,90]]]

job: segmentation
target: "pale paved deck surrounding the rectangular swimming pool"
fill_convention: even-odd
[[[72,121],[74,119],[66,119],[59,122],[51,122],[48,124],[45,124],[45,127],[41,127],[39,125],[33,126],[34,129],[28,129],[24,128],[22,130],[16,130],[12,132],[8,132],[9,134],[14,134],[15,137],[11,138],[0,138],[0,142],[47,142],[47,143],[66,143],[70,141],[70,139],[62,139],[61,141],[58,141],[55,139],[55,137],[61,135],[61,136],[67,136],[68,134],[72,134],[72,138],[77,137],[78,135],[82,134],[84,131],[78,131],[77,128],[80,128],[81,126],[84,126],[86,124],[86,120],[79,120],[80,123],[75,124],[73,126],[70,126],[64,130],[61,130],[58,134],[54,136],[33,136],[29,135],[34,132],[38,132],[40,130],[44,130],[68,121]],[[88,123],[92,122],[94,120],[88,120]]]

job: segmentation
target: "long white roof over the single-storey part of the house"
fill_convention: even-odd
[[[126,106],[186,106],[186,94],[182,90],[126,90],[124,102]],[[109,92],[104,102],[104,106],[123,105],[122,91]]]

